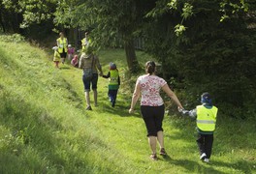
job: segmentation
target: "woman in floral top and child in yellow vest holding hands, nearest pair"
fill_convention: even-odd
[[[185,110],[176,94],[169,88],[167,82],[155,74],[156,66],[153,61],[145,64],[145,74],[138,77],[135,90],[132,97],[129,113],[134,112],[136,102],[141,99],[141,112],[144,124],[147,130],[148,143],[151,149],[150,158],[157,160],[156,146],[157,142],[160,146],[159,154],[167,156],[164,146],[164,133],[162,122],[165,115],[165,106],[160,96],[162,89],[174,102],[176,102],[178,111],[190,117],[197,117],[197,144],[200,151],[200,160],[209,161],[213,143],[213,131],[215,130],[217,107],[212,105],[211,98],[208,93],[201,96],[202,105],[198,105],[193,110]]]

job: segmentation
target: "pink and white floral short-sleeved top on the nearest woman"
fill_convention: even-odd
[[[167,82],[163,78],[156,75],[144,74],[139,76],[137,84],[141,87],[141,105],[163,105],[164,102],[159,92],[166,83]]]

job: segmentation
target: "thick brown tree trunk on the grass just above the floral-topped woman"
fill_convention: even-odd
[[[124,42],[124,50],[126,54],[126,60],[128,69],[131,73],[139,71],[140,66],[135,53],[135,45],[133,40],[127,40]]]

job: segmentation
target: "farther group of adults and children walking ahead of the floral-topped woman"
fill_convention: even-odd
[[[59,34],[59,38],[56,40],[57,46],[54,46],[54,56],[53,62],[55,63],[55,67],[59,68],[59,61],[64,64],[65,58],[67,57],[71,60],[71,64],[74,67],[79,67],[83,70],[82,82],[84,86],[84,96],[86,101],[86,110],[92,110],[91,102],[90,102],[90,89],[93,91],[94,97],[94,105],[98,106],[97,103],[97,83],[98,76],[102,76],[104,78],[109,78],[109,98],[112,103],[112,107],[115,105],[117,91],[120,85],[120,77],[116,65],[114,63],[110,63],[110,71],[108,74],[104,75],[102,72],[102,68],[100,65],[100,61],[97,56],[94,55],[94,48],[91,45],[91,40],[88,37],[88,32],[85,32],[85,37],[81,40],[81,50],[80,50],[80,59],[75,53],[75,48],[71,47],[68,44],[67,38],[64,37],[63,32]],[[74,55],[74,56],[73,56]]]

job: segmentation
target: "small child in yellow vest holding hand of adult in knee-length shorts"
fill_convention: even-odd
[[[112,107],[114,107],[117,91],[120,85],[120,77],[118,70],[116,69],[116,65],[110,63],[110,72],[107,75],[103,75],[103,77],[110,79],[108,96],[110,98],[110,101],[112,102]]]

